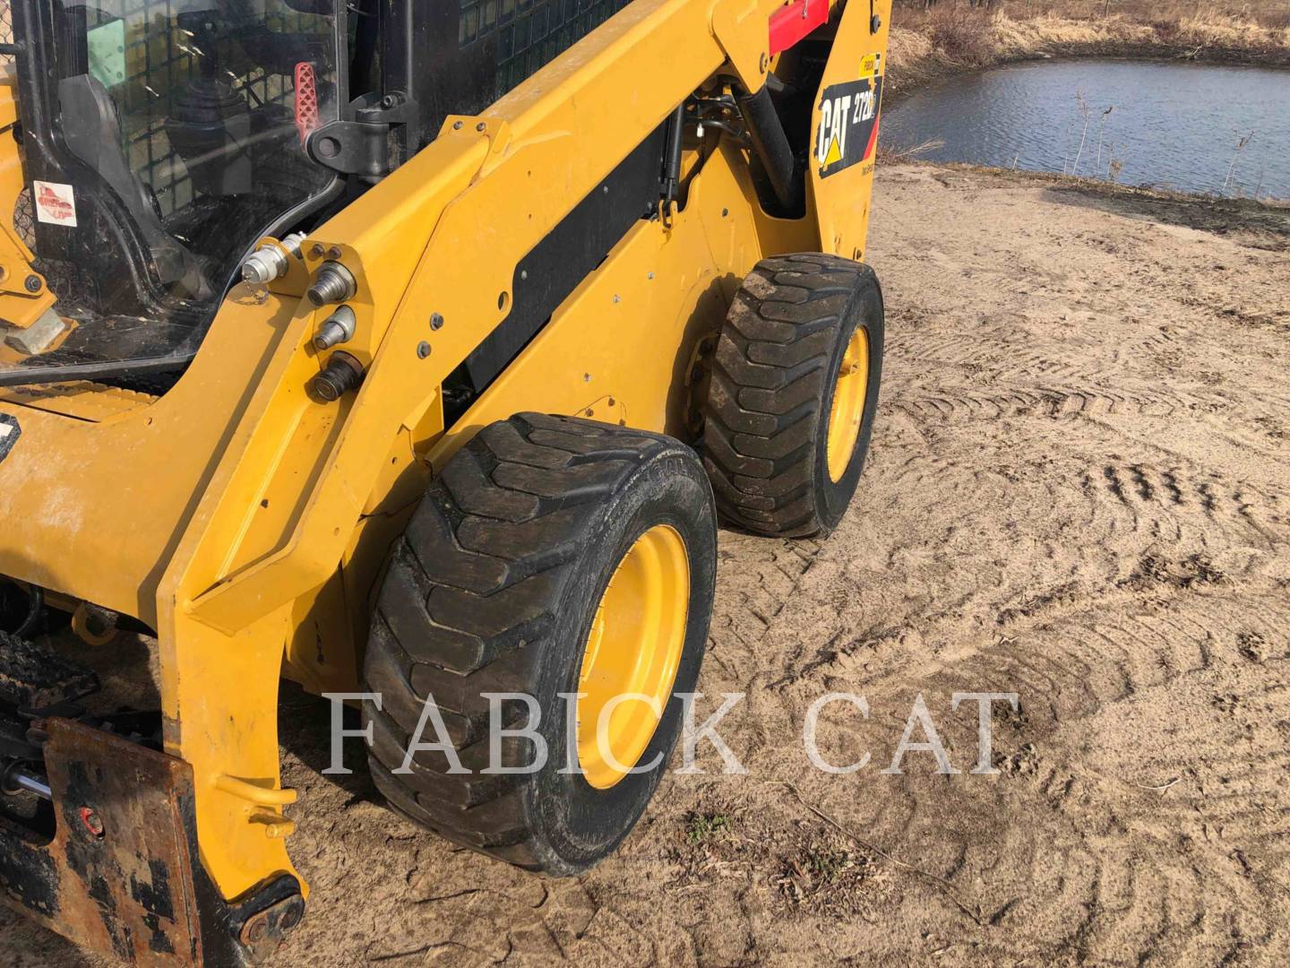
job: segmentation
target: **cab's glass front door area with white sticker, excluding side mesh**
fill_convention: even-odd
[[[41,337],[0,350],[0,383],[174,369],[246,248],[337,183],[306,145],[338,115],[343,25],[332,0],[15,0],[13,17],[15,222],[58,301]]]

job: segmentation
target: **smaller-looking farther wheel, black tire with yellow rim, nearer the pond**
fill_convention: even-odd
[[[873,432],[882,338],[882,290],[863,263],[804,253],[748,274],[703,421],[703,466],[726,520],[779,537],[837,527]]]

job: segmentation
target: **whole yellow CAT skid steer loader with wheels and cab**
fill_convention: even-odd
[[[889,13],[0,4],[6,903],[126,962],[272,951],[284,676],[361,706],[413,821],[614,849],[717,521],[827,533],[860,475]],[[114,634],[159,710],[89,711]]]

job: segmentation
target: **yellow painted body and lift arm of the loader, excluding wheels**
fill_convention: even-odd
[[[165,747],[192,767],[201,862],[223,898],[294,870],[279,678],[359,688],[382,561],[431,475],[520,410],[682,434],[697,346],[760,258],[863,254],[872,151],[855,160],[860,148],[842,139],[868,137],[871,119],[855,120],[866,92],[876,128],[890,0],[873,5],[877,32],[855,3],[828,25],[811,121],[824,147],[805,214],[766,214],[746,147],[688,145],[684,204],[637,222],[445,426],[440,387],[506,319],[516,265],[720,71],[760,88],[779,6],[635,0],[481,115],[448,117],[428,147],[312,232],[285,277],[235,287],[157,399],[0,388],[0,413],[22,425],[0,463],[0,573],[156,629]],[[0,98],[5,203],[17,185],[9,105]],[[12,234],[0,239],[10,275],[10,259],[30,258]],[[326,314],[301,297],[324,261],[357,280],[344,348],[366,368],[337,403],[307,391],[326,363],[311,343]]]

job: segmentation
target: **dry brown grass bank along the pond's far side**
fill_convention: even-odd
[[[1290,66],[1290,0],[897,0],[889,90],[1032,57],[1109,54]]]

